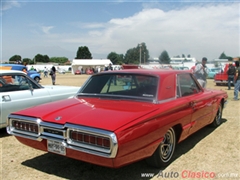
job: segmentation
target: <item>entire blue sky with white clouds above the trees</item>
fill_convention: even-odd
[[[240,56],[240,0],[2,0],[0,8],[2,61],[37,54],[72,60],[81,46],[106,59],[142,42],[150,58],[164,50],[197,60]]]

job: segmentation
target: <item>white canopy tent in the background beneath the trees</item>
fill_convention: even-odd
[[[73,59],[72,61],[72,74],[77,70],[86,71],[87,68],[94,68],[95,71],[104,70],[105,66],[112,63],[109,59]]]

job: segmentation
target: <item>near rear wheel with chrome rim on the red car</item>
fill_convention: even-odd
[[[168,166],[172,161],[175,147],[176,134],[174,129],[170,128],[153,155],[146,159],[147,163],[157,168]]]

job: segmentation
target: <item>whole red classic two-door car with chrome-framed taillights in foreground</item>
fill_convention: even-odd
[[[74,98],[10,114],[7,131],[27,146],[101,166],[146,159],[162,167],[177,143],[221,124],[227,97],[182,70],[105,71]]]

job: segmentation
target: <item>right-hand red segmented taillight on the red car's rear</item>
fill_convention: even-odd
[[[70,139],[89,145],[94,145],[101,148],[110,148],[110,139],[107,137],[101,137],[93,134],[87,134],[78,131],[70,131]]]

